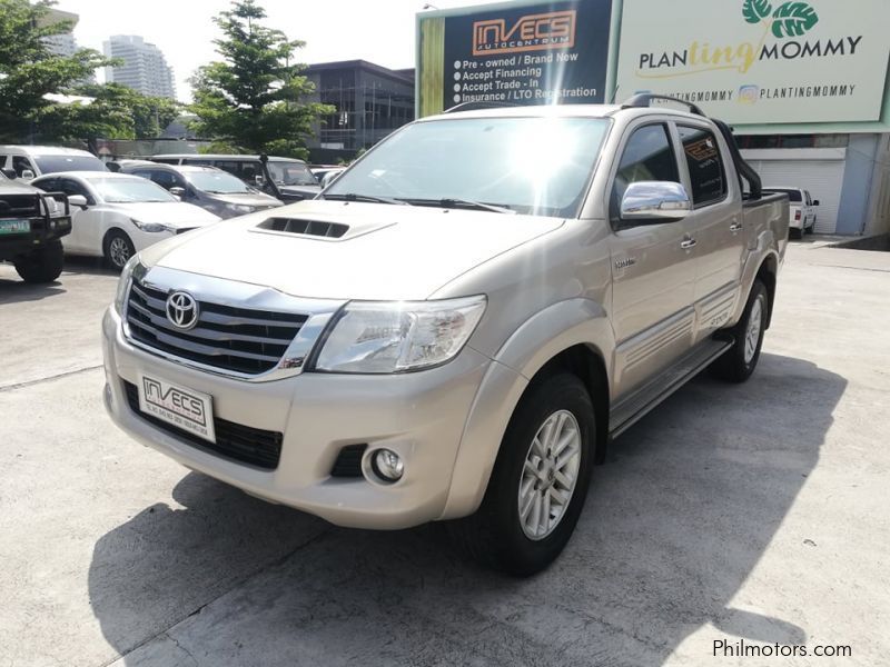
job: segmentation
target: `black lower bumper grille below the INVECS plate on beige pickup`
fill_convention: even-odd
[[[139,389],[136,385],[123,380],[123,388],[127,391],[127,402],[130,409],[155,427],[186,440],[190,445],[243,464],[250,464],[265,470],[275,470],[278,467],[278,459],[281,457],[281,440],[284,439],[280,432],[244,426],[215,417],[216,442],[210,442],[157,417],[146,415],[139,409]]]

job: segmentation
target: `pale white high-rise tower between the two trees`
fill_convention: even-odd
[[[142,94],[176,99],[174,70],[158,47],[136,34],[115,34],[102,47],[107,57],[123,60],[120,67],[106,68],[106,81]]]

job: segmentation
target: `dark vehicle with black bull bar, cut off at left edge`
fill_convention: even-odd
[[[60,239],[69,233],[63,195],[53,197],[0,173],[0,261],[11,261],[26,282],[52,282],[62,272]]]

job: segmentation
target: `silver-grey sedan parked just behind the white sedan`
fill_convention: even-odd
[[[120,173],[155,181],[182,201],[199,206],[220,218],[234,218],[281,206],[278,199],[215,167],[128,163],[120,167]]]

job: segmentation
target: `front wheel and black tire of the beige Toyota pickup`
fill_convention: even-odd
[[[562,372],[530,387],[511,419],[482,506],[452,524],[458,544],[494,569],[528,576],[560,555],[577,524],[595,454],[593,404]]]

